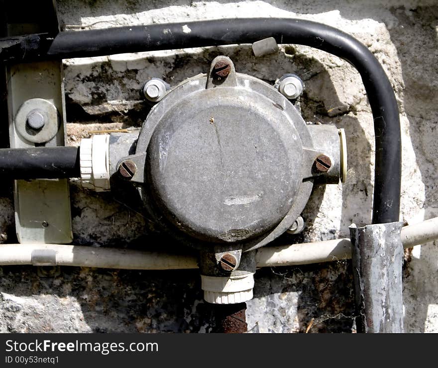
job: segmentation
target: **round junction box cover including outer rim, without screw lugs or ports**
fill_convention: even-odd
[[[301,214],[313,143],[294,106],[238,74],[191,78],[150,112],[138,138],[140,188],[155,217],[191,245],[264,245]],[[273,238],[273,239],[270,239]]]

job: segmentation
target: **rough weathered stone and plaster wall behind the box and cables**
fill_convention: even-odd
[[[410,224],[438,216],[438,6],[431,1],[101,1],[60,0],[65,29],[277,16],[311,19],[361,40],[382,63],[394,86],[403,139],[401,219]],[[347,134],[349,168],[343,185],[316,187],[303,217],[307,229],[284,242],[347,237],[352,223],[371,221],[374,137],[372,115],[355,70],[308,47],[283,45],[255,58],[249,45],[211,47],[94,59],[65,60],[69,144],[90,131],[139,126],[148,108],[142,85],[152,77],[175,85],[205,72],[225,54],[238,72],[273,83],[299,74],[307,121],[334,123]],[[330,109],[338,111],[333,116]],[[0,241],[14,242],[8,186],[0,193]],[[74,243],[158,247],[155,232],[129,197],[84,192],[71,182]],[[257,271],[248,302],[251,332],[354,332],[349,261]],[[405,330],[438,332],[438,246],[407,251],[404,264]],[[0,332],[208,332],[210,305],[202,300],[197,271],[125,271],[63,267],[39,277],[31,267],[0,268]]]

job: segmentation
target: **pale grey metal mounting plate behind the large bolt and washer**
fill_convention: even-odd
[[[6,80],[10,147],[35,145],[17,132],[15,116],[25,101],[36,98],[55,106],[61,121],[57,134],[45,145],[64,145],[62,63],[54,60],[10,65],[6,67]],[[73,234],[67,179],[16,180],[14,201],[15,228],[20,243],[71,243]],[[48,226],[43,226],[44,222]]]

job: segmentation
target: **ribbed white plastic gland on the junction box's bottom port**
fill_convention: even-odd
[[[243,303],[252,299],[254,273],[230,277],[201,275],[201,287],[208,303]]]

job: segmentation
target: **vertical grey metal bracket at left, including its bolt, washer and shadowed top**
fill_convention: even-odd
[[[26,3],[25,6],[14,3],[3,11],[6,23],[2,36],[11,39],[31,33],[53,36],[59,31],[55,1]],[[35,21],[23,22],[22,19]],[[7,81],[10,147],[64,145],[66,119],[62,62],[18,61],[7,64],[3,71]],[[71,243],[67,179],[15,180],[14,203],[18,242]]]

